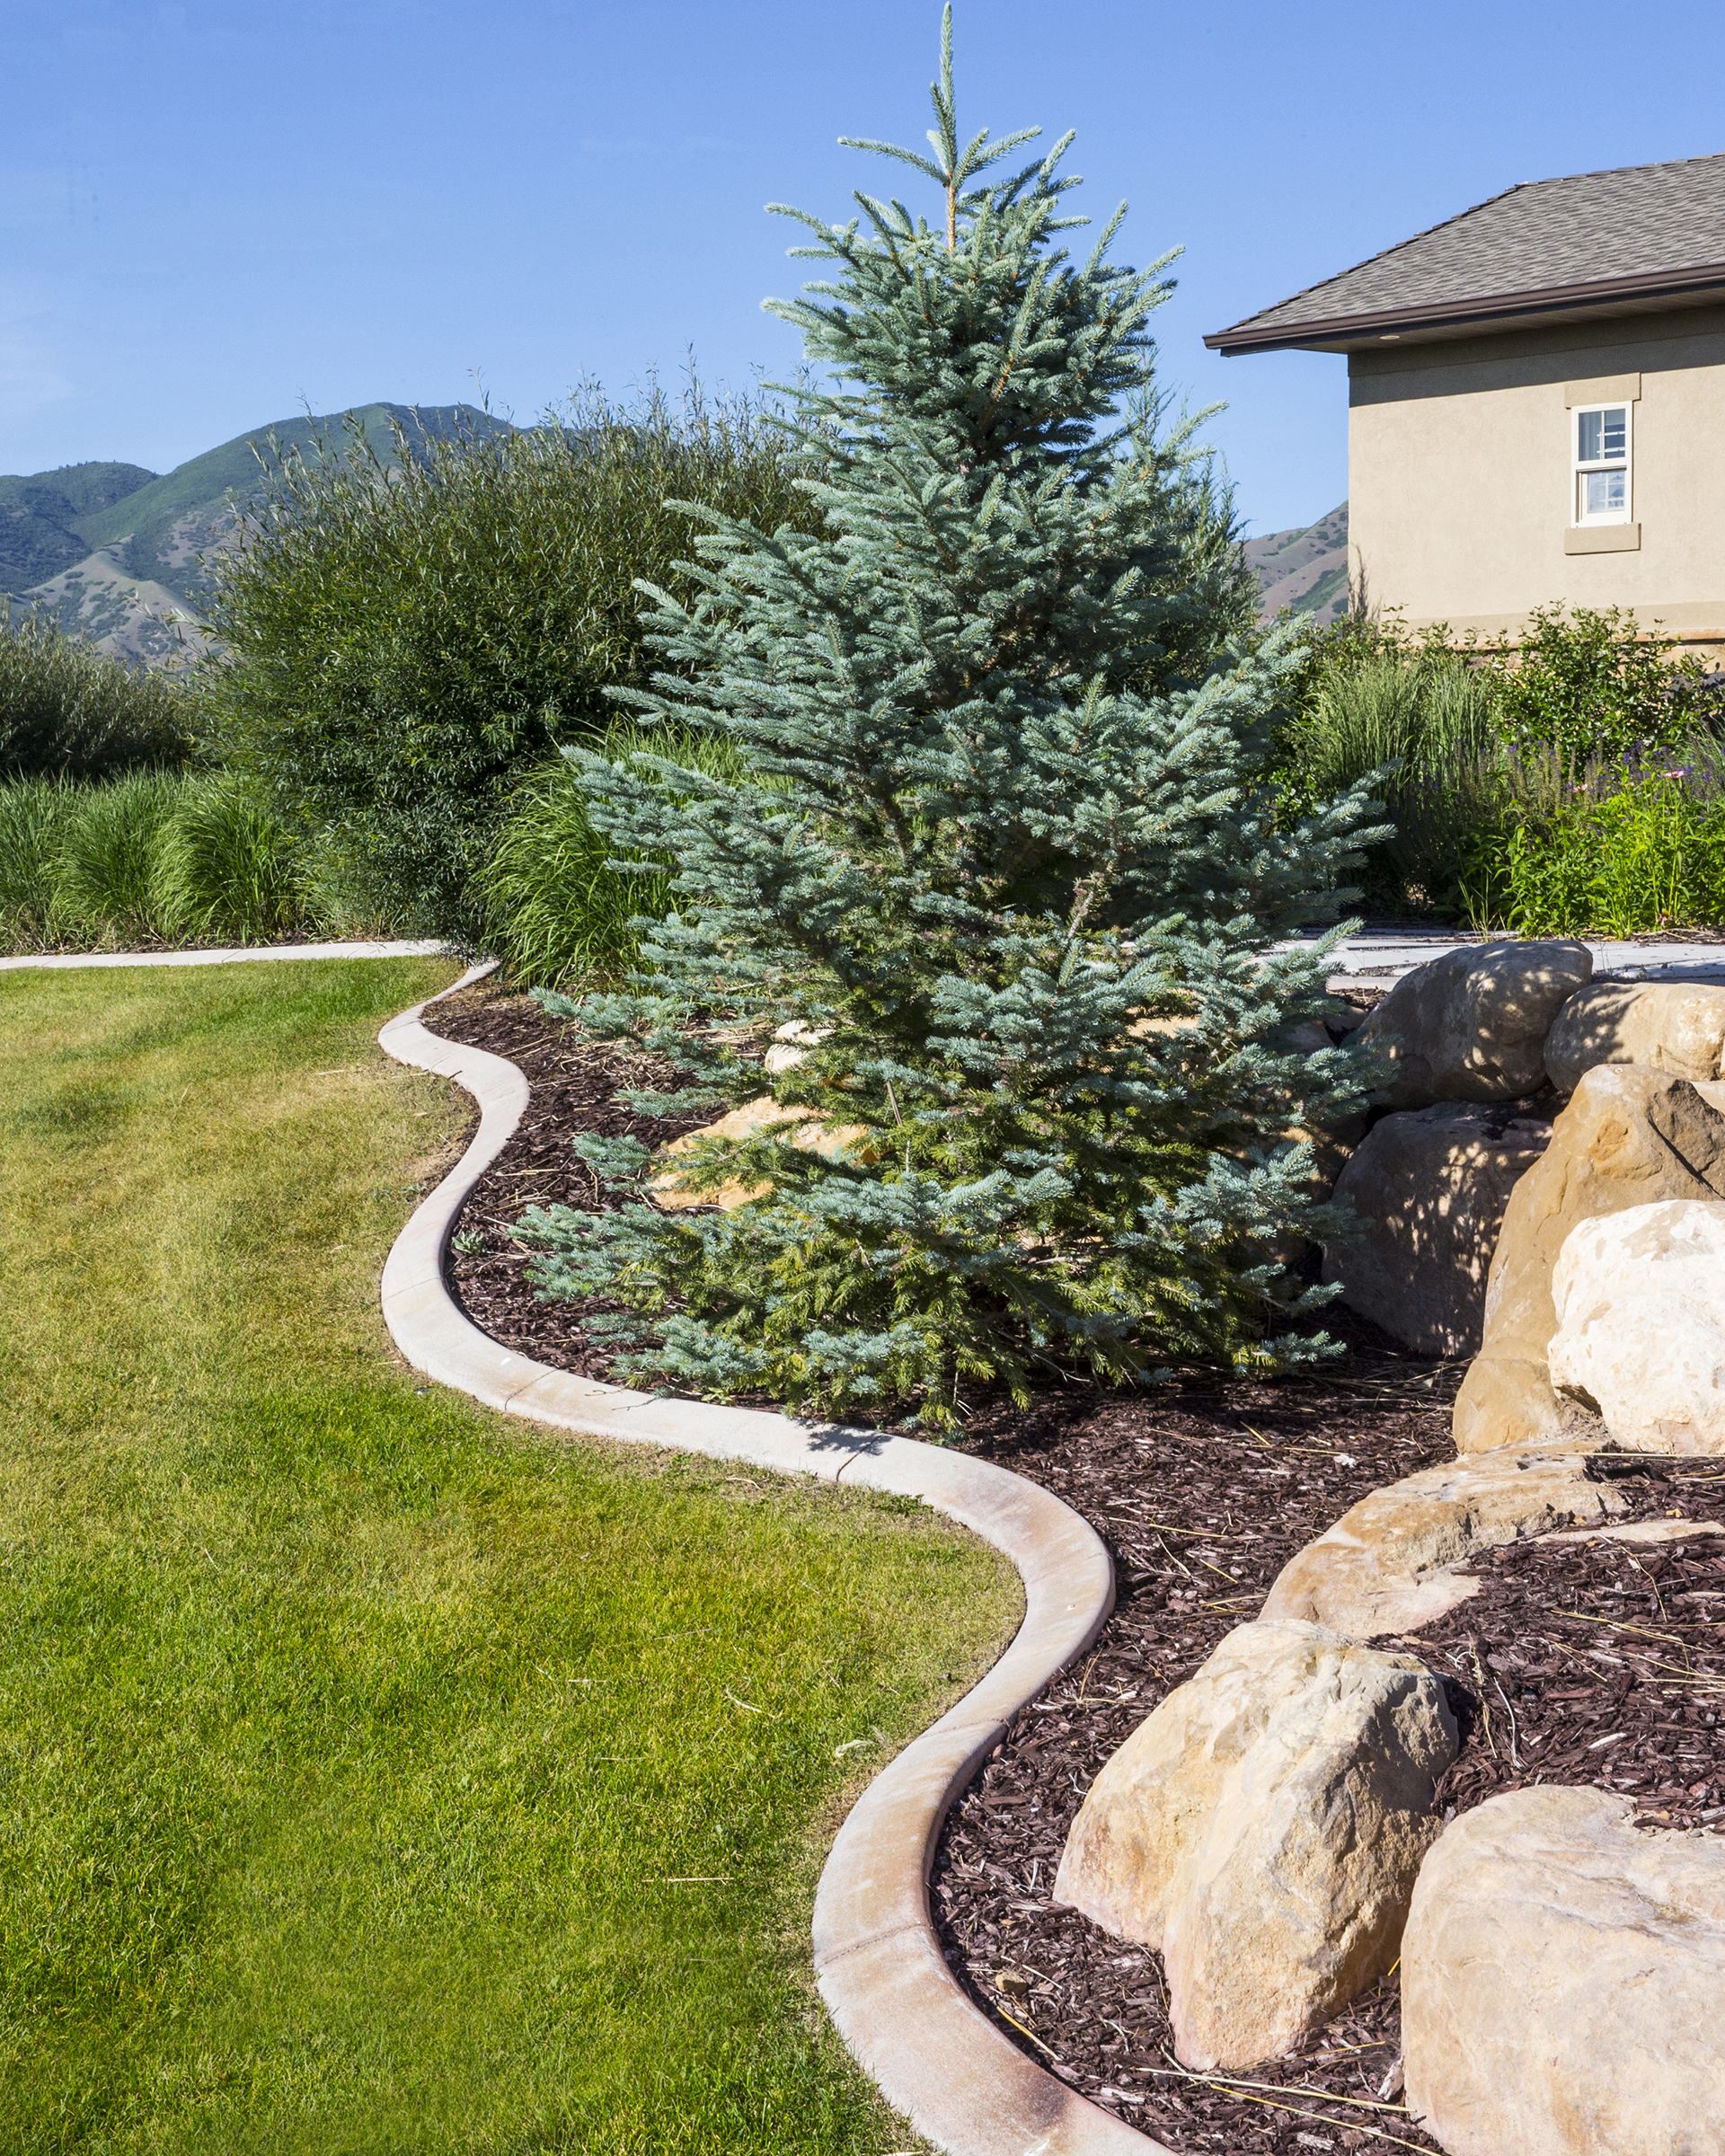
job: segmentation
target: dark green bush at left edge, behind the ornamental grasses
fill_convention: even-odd
[[[175,681],[63,636],[43,614],[13,621],[0,599],[0,780],[179,763],[188,733]]]

